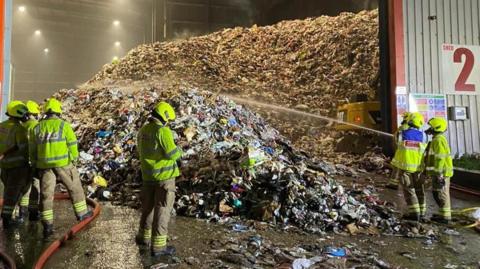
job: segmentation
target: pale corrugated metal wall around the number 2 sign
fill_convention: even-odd
[[[404,0],[403,5],[407,90],[443,93],[441,46],[480,45],[480,0]],[[453,153],[480,152],[480,96],[448,95],[447,102],[470,107],[470,120],[449,123]]]

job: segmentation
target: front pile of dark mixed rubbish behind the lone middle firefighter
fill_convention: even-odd
[[[105,178],[120,204],[138,206],[137,131],[153,104],[166,100],[178,111],[171,128],[184,152],[178,214],[240,215],[315,232],[348,224],[396,227],[371,190],[344,189],[329,176],[333,166],[296,151],[263,118],[226,97],[180,85],[63,90],[56,97],[79,137],[82,179]]]

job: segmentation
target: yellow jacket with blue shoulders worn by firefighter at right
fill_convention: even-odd
[[[412,132],[412,129],[403,131],[405,132]],[[421,133],[420,131],[418,131]],[[415,173],[422,170],[423,165],[423,154],[425,153],[425,149],[427,147],[426,143],[423,142],[425,135],[423,138],[419,139],[422,141],[412,141],[412,140],[404,140],[398,144],[398,149],[395,152],[395,156],[392,160],[392,165],[400,170]]]

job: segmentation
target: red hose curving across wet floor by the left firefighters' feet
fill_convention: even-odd
[[[68,200],[70,199],[70,196],[68,194],[56,194],[55,195],[55,200]],[[41,269],[45,264],[47,263],[48,259],[67,241],[73,238],[75,234],[83,230],[90,222],[92,222],[98,214],[100,214],[100,205],[90,199],[87,198],[87,204],[89,204],[91,207],[93,207],[93,216],[85,219],[77,224],[75,224],[68,232],[66,232],[62,237],[59,239],[53,241],[53,243],[48,246],[48,248],[43,251],[42,255],[40,258],[38,258],[37,262],[34,265],[34,269]]]

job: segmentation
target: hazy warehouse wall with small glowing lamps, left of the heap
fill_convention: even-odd
[[[90,79],[150,35],[147,0],[14,0],[12,97],[41,101]],[[23,5],[26,11],[20,12]],[[115,27],[112,22],[120,20]],[[41,34],[36,36],[35,30]],[[121,46],[114,45],[120,41]],[[44,53],[44,48],[49,52]]]

